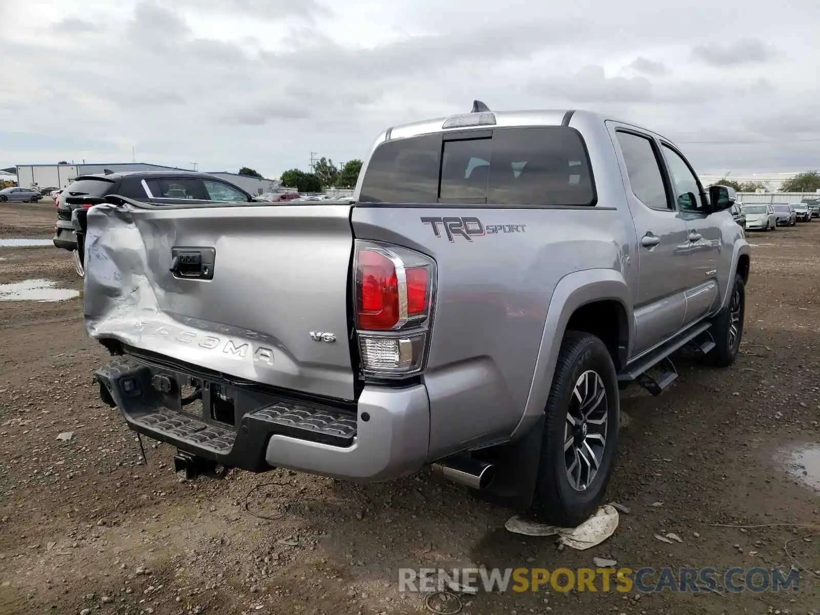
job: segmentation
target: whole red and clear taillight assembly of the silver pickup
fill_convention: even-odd
[[[359,353],[365,376],[423,371],[435,298],[435,262],[399,246],[357,240],[353,270]]]

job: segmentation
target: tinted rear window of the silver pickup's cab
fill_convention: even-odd
[[[594,184],[575,130],[502,128],[484,139],[443,142],[435,134],[380,145],[365,171],[360,200],[585,206],[594,204]]]

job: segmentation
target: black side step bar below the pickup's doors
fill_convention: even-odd
[[[668,341],[655,348],[652,352],[641,357],[617,376],[618,384],[625,385],[635,382],[653,395],[663,393],[677,379],[677,370],[669,355],[683,348],[686,344],[694,343],[699,351],[708,353],[715,347],[712,335],[709,333],[711,323],[702,322],[687,330],[683,335]],[[659,373],[650,373],[651,371]]]

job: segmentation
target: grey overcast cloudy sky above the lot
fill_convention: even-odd
[[[0,0],[0,167],[364,157],[389,125],[589,108],[704,174],[820,167],[817,0]]]

